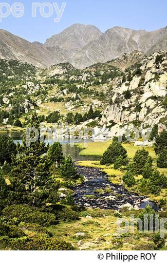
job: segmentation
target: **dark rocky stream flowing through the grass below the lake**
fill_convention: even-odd
[[[77,166],[77,168],[78,172],[86,178],[82,185],[72,188],[75,191],[73,197],[77,205],[91,208],[119,209],[125,204],[127,207],[139,209],[149,204],[155,210],[158,210],[155,203],[143,201],[144,196],[129,193],[123,185],[109,182],[107,180],[108,176],[99,168],[82,166]]]

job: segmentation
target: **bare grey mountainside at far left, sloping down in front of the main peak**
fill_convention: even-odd
[[[0,30],[0,58],[19,60],[37,67],[46,67],[66,61],[68,54],[59,46],[45,47],[30,43],[8,31]]]

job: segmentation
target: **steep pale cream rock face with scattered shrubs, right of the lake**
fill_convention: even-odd
[[[127,68],[112,81],[110,104],[103,111],[100,124],[110,126],[110,136],[119,127],[153,127],[167,122],[167,53],[154,53],[140,64]],[[126,128],[126,127],[125,127]]]

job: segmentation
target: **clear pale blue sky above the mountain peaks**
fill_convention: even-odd
[[[166,0],[6,0],[10,6],[20,2],[25,7],[23,17],[16,18],[11,14],[2,19],[0,28],[12,32],[24,39],[44,43],[53,34],[61,32],[74,23],[91,24],[101,31],[114,26],[132,29],[156,30],[167,26]],[[32,17],[32,3],[58,3],[59,8],[66,3],[64,13],[59,23],[54,23],[57,14],[54,10],[51,17],[40,15],[39,9],[36,17]],[[5,9],[2,9],[5,12]],[[45,9],[47,12],[48,9]]]

